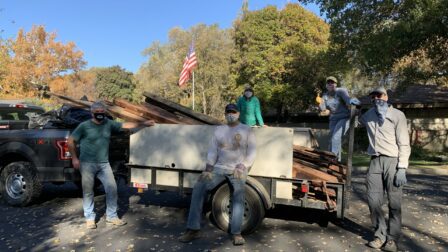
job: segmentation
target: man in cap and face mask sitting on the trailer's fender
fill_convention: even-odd
[[[241,236],[245,184],[247,173],[255,161],[256,147],[254,133],[249,126],[239,122],[239,115],[235,104],[226,106],[227,124],[218,126],[211,140],[205,170],[193,188],[187,231],[179,238],[181,242],[190,242],[200,237],[204,197],[211,189],[227,180],[232,192],[230,233],[233,244],[245,243]]]

